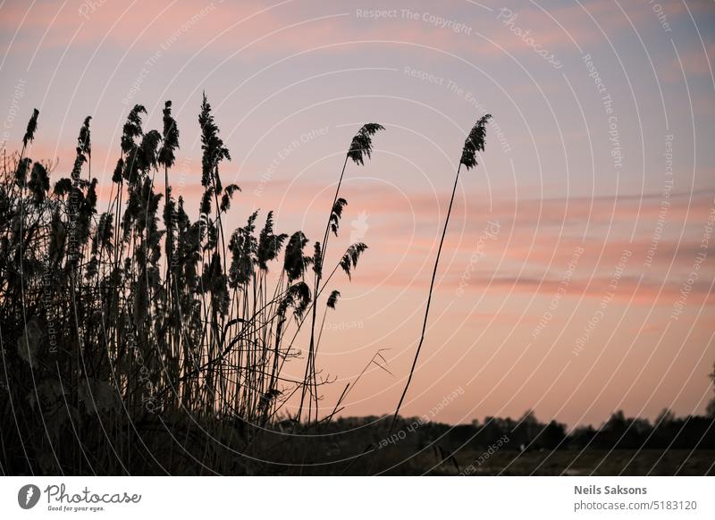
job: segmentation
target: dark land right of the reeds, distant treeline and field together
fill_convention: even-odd
[[[286,421],[265,435],[264,465],[257,472],[499,474],[513,464],[508,474],[561,474],[569,465],[578,465],[579,474],[647,474],[655,467],[655,474],[712,474],[713,425],[710,416],[676,417],[667,410],[653,421],[618,411],[603,424],[570,432],[566,424],[542,422],[531,411],[518,419],[485,417],[458,425],[371,415],[339,417],[324,424],[320,436],[293,440],[286,438]],[[484,463],[478,471],[477,461]]]

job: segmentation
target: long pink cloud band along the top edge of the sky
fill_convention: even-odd
[[[90,5],[85,2],[64,5],[38,2],[30,8],[27,4],[8,4],[3,8],[0,27],[6,31],[19,27],[21,38],[13,46],[22,46],[30,52],[46,30],[43,46],[63,48],[70,41],[75,46],[96,46],[106,39],[122,48],[138,48],[148,55],[162,49],[167,52],[170,49],[197,51],[214,38],[209,51],[213,48],[225,55],[227,49],[235,51],[248,46],[241,53],[244,57],[265,53],[292,54],[319,46],[332,46],[333,51],[342,51],[345,42],[370,40],[431,46],[467,57],[499,56],[503,50],[533,52],[522,38],[497,20],[498,9],[492,13],[473,12],[473,16],[456,20],[455,23],[463,23],[470,29],[466,34],[440,27],[421,17],[412,20],[400,15],[380,21],[358,18],[355,5],[350,3],[331,4],[331,9],[320,10],[305,9],[303,4],[292,2],[272,7],[257,1],[229,3],[218,0],[206,4],[179,0],[171,4],[105,2],[96,8]],[[422,11],[416,8],[414,11],[418,14],[441,12],[433,4],[421,7]],[[619,29],[626,23],[625,18],[605,2],[592,2],[585,7],[607,28]],[[580,7],[551,9],[551,16],[564,29],[549,15],[533,7],[518,9],[515,13],[515,25],[530,30],[534,39],[546,48],[573,46],[564,29],[579,43],[601,39],[593,21]],[[479,38],[477,33],[491,39],[493,44]]]

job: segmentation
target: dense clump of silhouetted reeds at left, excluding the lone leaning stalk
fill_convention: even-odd
[[[366,124],[353,138],[323,241],[307,251],[306,235],[278,233],[270,211],[226,229],[240,188],[222,180],[231,155],[206,96],[196,221],[172,195],[180,132],[170,101],[161,132],[142,128],[144,106],[131,109],[105,212],[91,176],[90,118],[70,175],[52,183],[49,165],[26,156],[38,114],[21,152],[4,155],[0,183],[3,472],[176,473],[175,457],[236,472],[241,457],[222,460],[218,439],[245,449],[279,419],[318,422],[319,297],[337,271],[350,276],[367,246],[351,245],[324,273],[325,249],[347,205],[346,166],[370,158],[383,127]],[[339,296],[332,290],[321,310]],[[299,332],[308,326],[304,355]],[[291,359],[305,362],[302,380],[286,375]],[[182,449],[157,455],[167,443]]]

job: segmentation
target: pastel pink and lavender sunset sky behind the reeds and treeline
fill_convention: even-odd
[[[59,161],[59,178],[91,115],[101,205],[130,108],[160,129],[170,99],[170,180],[196,201],[206,92],[231,151],[223,181],[242,189],[232,226],[273,209],[279,230],[315,239],[350,139],[382,123],[372,160],[346,172],[326,262],[370,248],[335,281],[317,362],[327,412],[381,352],[389,373],[370,365],[343,415],[382,415],[415,354],[464,138],[492,113],[401,413],[695,414],[715,397],[713,55],[711,0],[4,0],[0,147],[21,145],[37,107],[29,156]]]

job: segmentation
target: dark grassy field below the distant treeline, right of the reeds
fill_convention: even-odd
[[[304,432],[305,433],[305,432]],[[477,442],[458,449],[441,440],[408,439],[391,445],[368,432],[287,437],[259,441],[247,454],[262,462],[245,466],[249,474],[352,475],[713,475],[715,449],[604,449],[570,445],[526,449]],[[275,438],[273,438],[275,440]]]

